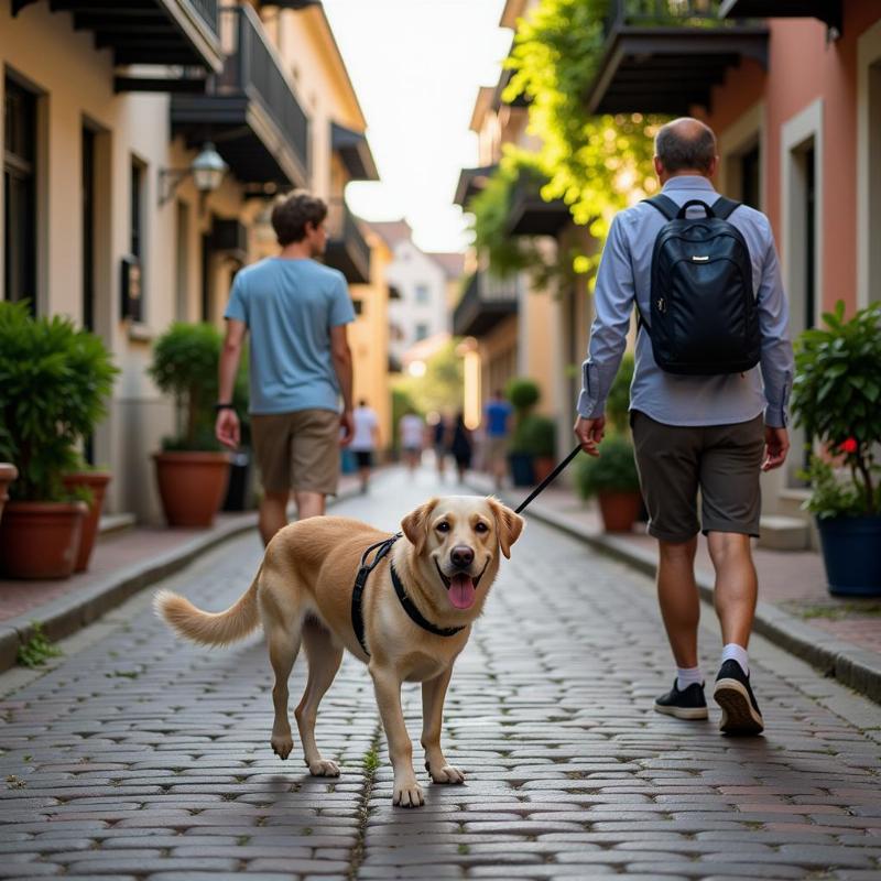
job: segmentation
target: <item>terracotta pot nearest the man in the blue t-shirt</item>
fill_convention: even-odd
[[[228,453],[156,453],[156,480],[170,526],[214,523],[229,478]]]

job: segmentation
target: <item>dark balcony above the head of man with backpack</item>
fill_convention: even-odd
[[[591,113],[687,116],[749,58],[768,67],[768,29],[721,21],[719,0],[611,0]]]

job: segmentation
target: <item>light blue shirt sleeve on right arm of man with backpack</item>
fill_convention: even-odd
[[[755,297],[762,334],[760,365],[766,402],[764,423],[772,428],[782,428],[788,423],[794,359],[790,340],[790,307],[770,227],[766,235],[768,250]]]

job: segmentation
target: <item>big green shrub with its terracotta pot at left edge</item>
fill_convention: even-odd
[[[117,369],[100,338],[61,316],[0,303],[0,459],[19,479],[0,521],[0,565],[17,578],[74,569],[87,493],[65,490],[76,445],[106,414]]]

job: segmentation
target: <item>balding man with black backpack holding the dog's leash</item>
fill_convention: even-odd
[[[697,656],[694,561],[707,536],[722,631],[713,696],[728,735],[763,730],[747,648],[758,583],[760,471],[783,465],[793,355],[788,307],[768,218],[720,199],[716,138],[677,119],[655,139],[660,196],[618,214],[594,295],[575,433],[601,455],[606,396],[638,316],[631,426],[649,533],[659,542],[657,594],[676,678],[654,708],[706,719]],[[700,490],[700,518],[697,494]]]

